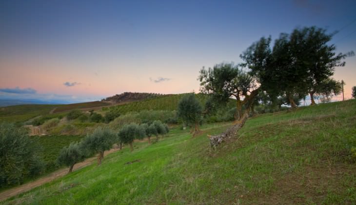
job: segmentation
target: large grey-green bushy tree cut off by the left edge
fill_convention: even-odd
[[[39,150],[27,130],[14,124],[0,124],[0,186],[21,184],[24,177],[42,172]]]

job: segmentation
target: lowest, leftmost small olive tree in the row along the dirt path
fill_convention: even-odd
[[[85,159],[85,154],[79,143],[70,143],[68,147],[63,147],[57,158],[58,164],[69,166],[68,173],[73,171],[73,166],[76,163],[82,162]]]

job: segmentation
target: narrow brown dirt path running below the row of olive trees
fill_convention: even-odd
[[[119,150],[118,148],[113,148],[113,149],[110,149],[109,151],[105,151],[104,156],[106,156],[110,153],[116,152],[118,150]],[[95,156],[92,158],[88,158],[81,163],[77,163],[74,165],[73,171],[76,171],[80,168],[83,168],[83,167],[89,165],[89,164],[92,164],[93,161],[96,161],[96,160],[97,160],[97,157]],[[5,190],[0,193],[0,202],[4,201],[12,196],[16,196],[22,192],[29,191],[37,186],[47,183],[47,182],[51,182],[59,177],[62,177],[68,173],[68,170],[69,170],[69,168],[59,169],[58,171],[52,172],[48,176],[41,177],[33,182],[29,182],[29,183],[22,184],[20,186]]]

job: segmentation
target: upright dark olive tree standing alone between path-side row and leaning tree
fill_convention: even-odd
[[[201,114],[202,107],[194,93],[183,96],[179,101],[177,116],[181,118],[184,123],[191,126],[191,133],[193,133],[193,136],[199,132]]]

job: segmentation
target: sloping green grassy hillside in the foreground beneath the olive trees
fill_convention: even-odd
[[[355,100],[260,115],[217,150],[206,134],[229,123],[175,129],[4,204],[355,204],[355,116]]]

